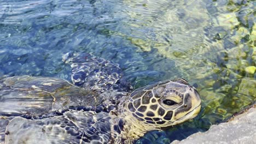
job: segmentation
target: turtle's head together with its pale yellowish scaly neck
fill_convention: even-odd
[[[120,135],[125,143],[147,131],[180,124],[197,116],[199,93],[184,79],[168,80],[140,88],[121,101],[117,113],[122,119]]]

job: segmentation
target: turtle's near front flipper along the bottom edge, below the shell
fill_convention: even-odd
[[[16,117],[7,126],[6,143],[108,143],[110,117],[106,112],[70,110],[45,119]]]

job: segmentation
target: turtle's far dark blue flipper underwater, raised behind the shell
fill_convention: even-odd
[[[119,65],[89,53],[66,53],[62,61],[71,63],[71,79],[76,86],[104,92],[112,89],[130,91]]]

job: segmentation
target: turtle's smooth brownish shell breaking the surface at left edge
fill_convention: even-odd
[[[95,106],[101,102],[96,93],[53,77],[7,77],[0,80],[0,93],[0,116],[8,117],[33,117],[71,106]]]

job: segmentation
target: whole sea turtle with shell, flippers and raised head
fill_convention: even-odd
[[[199,93],[184,79],[132,92],[118,64],[67,53],[72,82],[54,77],[0,80],[0,143],[132,143],[147,131],[194,118]]]

